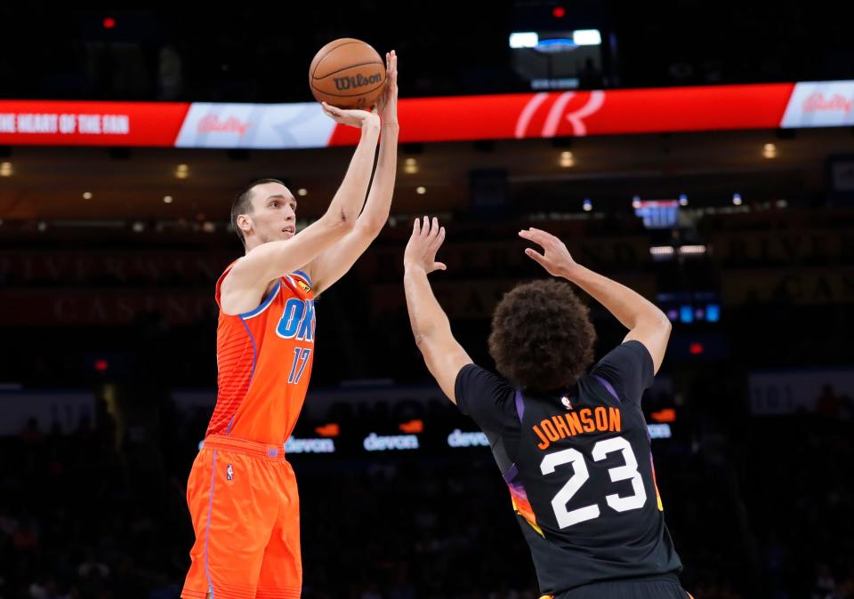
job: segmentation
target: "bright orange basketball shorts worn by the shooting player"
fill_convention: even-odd
[[[294,469],[281,445],[211,435],[193,463],[196,530],[184,599],[297,599],[302,591]]]

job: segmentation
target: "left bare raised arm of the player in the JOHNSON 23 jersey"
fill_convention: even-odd
[[[434,218],[432,224],[426,216],[423,223],[415,220],[403,257],[403,285],[415,344],[439,387],[456,403],[456,375],[464,365],[471,363],[471,358],[454,338],[451,323],[427,280],[427,275],[434,270],[446,269],[436,261],[436,252],[444,240],[445,228],[439,228],[439,220]]]

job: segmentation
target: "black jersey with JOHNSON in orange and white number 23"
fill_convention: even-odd
[[[475,364],[457,375],[457,405],[487,434],[542,593],[681,571],[641,412],[652,379],[639,341],[564,393],[524,394]]]

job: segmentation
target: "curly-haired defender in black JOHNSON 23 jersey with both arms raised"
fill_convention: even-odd
[[[552,276],[581,287],[629,329],[592,363],[595,331],[570,285],[520,284],[495,308],[497,376],[454,339],[427,275],[445,269],[439,222],[415,220],[404,286],[415,342],[439,387],[486,433],[531,549],[540,592],[555,599],[689,597],[665,526],[641,395],[671,325],[647,299],[576,263],[555,236],[520,237]]]

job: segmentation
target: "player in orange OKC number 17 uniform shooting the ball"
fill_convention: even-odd
[[[324,104],[336,122],[362,130],[326,214],[296,233],[296,200],[277,180],[255,181],[232,205],[246,255],[216,284],[219,389],[189,475],[196,543],[185,599],[301,594],[299,499],[284,444],[309,384],[314,298],[350,269],[388,219],[397,169],[395,52],[386,54],[386,72],[374,111]]]

